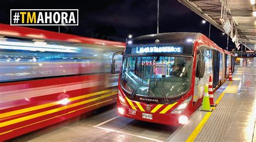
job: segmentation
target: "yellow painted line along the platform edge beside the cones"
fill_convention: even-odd
[[[238,74],[236,74],[235,76],[237,76]],[[234,77],[235,77],[234,76]],[[227,87],[229,87],[231,84],[233,83],[233,81],[231,81],[230,83],[228,83]],[[217,101],[215,103],[219,103],[220,100],[223,98],[223,96],[226,93],[227,88],[223,91],[223,93],[220,94],[220,96],[218,97]],[[215,108],[213,108],[215,109]],[[187,138],[186,142],[190,142],[190,141],[194,141],[194,139],[197,137],[197,135],[199,134],[199,132],[201,131],[201,129],[203,128],[203,126],[205,125],[205,123],[207,122],[207,120],[210,118],[210,116],[212,115],[212,112],[207,112],[206,115],[204,116],[204,118],[201,120],[201,122],[197,125],[196,129],[194,129],[194,131],[190,134],[190,136]]]

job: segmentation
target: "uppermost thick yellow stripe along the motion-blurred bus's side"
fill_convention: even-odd
[[[96,95],[100,95],[100,94],[104,94],[104,93],[109,93],[109,92],[111,92],[111,91],[117,91],[117,89],[109,89],[109,90],[99,91],[99,92],[96,92],[96,93],[91,93],[91,94],[86,94],[86,95],[82,95],[82,96],[72,97],[72,98],[69,98],[68,101],[69,101],[69,102],[71,102],[71,101],[76,101],[76,100],[80,100],[80,99],[82,99],[82,98],[87,98],[87,97],[91,97],[91,96],[96,96]],[[30,108],[25,108],[25,109],[20,109],[20,110],[5,112],[5,113],[0,114],[0,119],[1,119],[1,118],[4,118],[4,117],[14,116],[14,115],[18,115],[18,114],[21,114],[21,113],[33,111],[33,110],[48,108],[48,107],[50,107],[50,106],[58,105],[58,104],[61,104],[61,102],[60,102],[60,101],[57,101],[57,102],[52,102],[52,103],[47,103],[47,104],[32,106],[32,107],[30,107]]]

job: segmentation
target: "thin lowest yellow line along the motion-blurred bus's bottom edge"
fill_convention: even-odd
[[[12,129],[12,130],[9,130],[9,131],[0,133],[0,135],[3,135],[3,134],[5,134],[5,133],[9,133],[9,132],[12,132],[12,131],[21,129],[21,128],[26,127],[26,126],[30,126],[30,125],[33,125],[33,124],[45,122],[46,120],[50,120],[50,119],[53,119],[53,118],[57,118],[57,117],[60,117],[60,116],[64,116],[64,115],[67,115],[67,114],[69,114],[69,113],[72,113],[72,112],[75,112],[75,111],[78,111],[78,110],[86,109],[86,108],[89,108],[89,107],[94,106],[94,105],[98,105],[98,104],[101,104],[101,103],[109,102],[109,101],[111,101],[111,100],[112,100],[112,99],[106,100],[106,101],[103,101],[103,102],[100,102],[100,103],[92,104],[92,105],[86,106],[86,107],[84,107],[84,108],[80,108],[80,109],[77,109],[77,110],[70,111],[70,112],[68,112],[68,113],[64,113],[64,114],[62,114],[62,115],[58,115],[58,116],[55,116],[55,117],[51,117],[51,118],[48,118],[48,119],[44,119],[44,120],[39,121],[39,122],[36,122],[36,123],[32,123],[32,124],[29,124],[29,125],[25,125],[25,126],[22,126],[22,127],[18,127],[18,128],[16,128],[16,129]]]

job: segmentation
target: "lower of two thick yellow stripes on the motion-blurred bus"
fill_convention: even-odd
[[[73,107],[78,106],[78,105],[98,101],[98,100],[101,100],[103,98],[107,98],[107,97],[110,97],[110,96],[113,96],[113,95],[116,95],[116,94],[117,94],[116,92],[115,93],[109,93],[109,94],[106,94],[106,95],[103,95],[103,96],[100,96],[100,97],[96,97],[96,98],[91,98],[89,100],[85,100],[85,101],[82,101],[82,102],[73,103],[73,104],[69,104],[69,105],[64,105],[60,108],[35,113],[33,115],[24,116],[24,117],[20,117],[20,118],[17,118],[17,119],[12,119],[12,120],[0,123],[0,127],[12,125],[12,124],[15,124],[15,123],[23,122],[25,120],[29,120],[29,119],[33,119],[33,118],[37,118],[37,117],[41,117],[41,116],[45,116],[45,115],[49,115],[51,113],[55,113],[55,112],[58,112],[58,111],[69,109],[69,108],[73,108]]]

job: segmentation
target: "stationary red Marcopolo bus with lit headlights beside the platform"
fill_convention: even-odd
[[[120,116],[185,124],[201,105],[210,75],[216,90],[234,70],[234,55],[201,33],[151,34],[130,43],[119,74]]]

